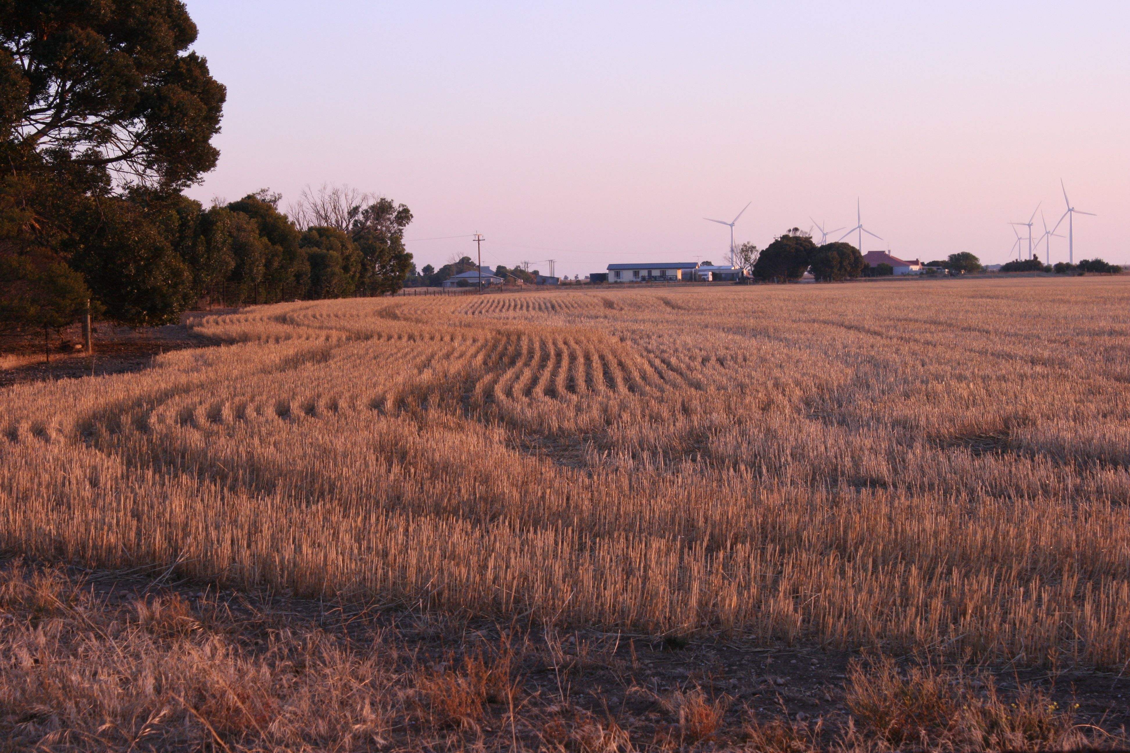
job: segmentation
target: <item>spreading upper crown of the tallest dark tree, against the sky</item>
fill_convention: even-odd
[[[180,189],[216,165],[226,91],[179,0],[0,3],[0,116],[54,170]]]

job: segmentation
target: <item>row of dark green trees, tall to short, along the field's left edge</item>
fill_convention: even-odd
[[[92,303],[131,325],[199,303],[382,295],[415,272],[412,216],[351,189],[184,195],[219,156],[226,90],[179,0],[0,5],[0,325]]]

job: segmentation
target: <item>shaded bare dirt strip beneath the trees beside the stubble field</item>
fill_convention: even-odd
[[[224,313],[224,312],[208,312]],[[186,314],[181,324],[158,327],[124,327],[108,323],[94,325],[94,358],[82,350],[78,324],[52,332],[44,348],[42,333],[0,334],[0,387],[26,382],[76,379],[84,376],[139,371],[154,358],[171,350],[216,344],[192,331]],[[50,362],[47,353],[50,351]]]

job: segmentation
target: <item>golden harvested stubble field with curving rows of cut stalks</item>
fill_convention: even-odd
[[[0,548],[386,612],[1110,673],[1124,690],[1130,281],[348,299],[194,330],[225,344],[0,391]],[[497,745],[521,746],[510,715]],[[721,744],[653,727],[559,746]],[[1053,727],[1020,739],[1061,744],[1070,725]],[[744,739],[772,747],[758,734]]]

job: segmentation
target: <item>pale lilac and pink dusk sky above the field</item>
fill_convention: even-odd
[[[542,272],[721,263],[704,217],[753,201],[737,240],[764,247],[809,216],[854,226],[857,196],[884,238],[864,252],[1003,262],[1009,221],[1060,219],[1060,178],[1098,214],[1076,261],[1130,263],[1125,0],[188,7],[228,91],[191,195],[382,193],[419,266],[475,231],[484,263]]]

